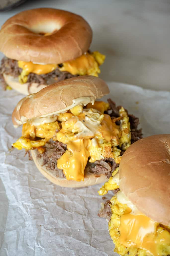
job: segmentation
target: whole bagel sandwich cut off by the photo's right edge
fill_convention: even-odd
[[[99,190],[114,190],[99,212],[122,256],[170,255],[170,134],[132,144]],[[116,194],[117,193],[117,194]]]

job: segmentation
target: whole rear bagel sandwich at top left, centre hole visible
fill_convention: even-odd
[[[28,95],[71,77],[98,77],[105,56],[89,50],[91,40],[91,27],[74,13],[38,8],[14,15],[0,30],[4,89]]]

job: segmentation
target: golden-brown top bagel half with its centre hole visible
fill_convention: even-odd
[[[92,30],[81,16],[38,8],[20,12],[4,23],[0,51],[10,59],[59,64],[84,54],[91,40]]]

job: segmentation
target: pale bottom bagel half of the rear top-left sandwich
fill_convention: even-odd
[[[7,85],[9,85],[12,89],[25,95],[36,93],[47,86],[45,84],[41,84],[38,86],[38,83],[31,83],[31,86],[29,88],[29,83],[21,84],[18,81],[18,78],[7,75],[5,73],[3,74],[3,77]]]

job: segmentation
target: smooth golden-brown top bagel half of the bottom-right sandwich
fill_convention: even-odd
[[[145,215],[170,225],[170,134],[132,144],[123,154],[120,189]]]

